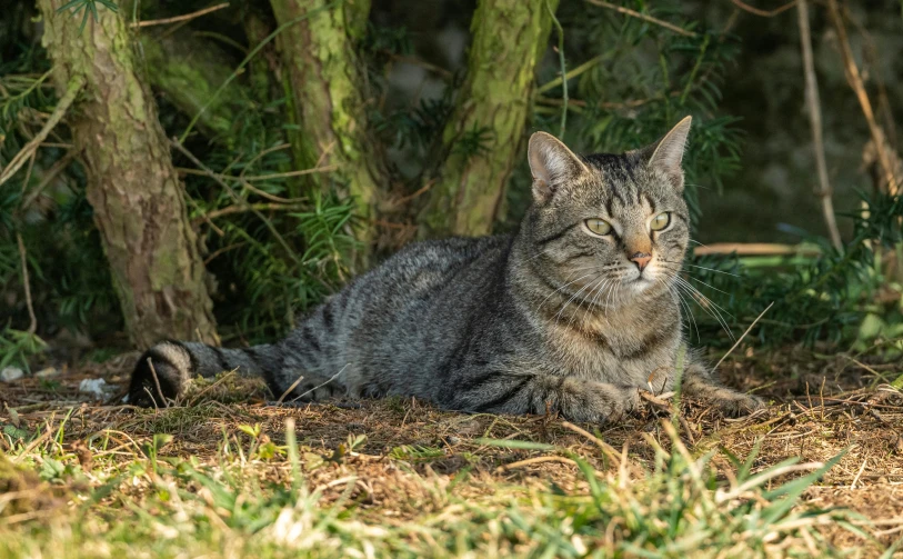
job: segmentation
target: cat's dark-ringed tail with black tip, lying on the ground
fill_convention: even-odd
[[[164,398],[174,400],[182,396],[191,378],[213,377],[231,370],[243,377],[263,377],[270,391],[279,397],[274,373],[280,361],[273,346],[222,349],[205,343],[164,341],[138,359],[129,385],[129,403],[163,407]]]

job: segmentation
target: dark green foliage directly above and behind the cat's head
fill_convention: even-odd
[[[656,2],[644,11],[683,29],[676,33],[613,10],[585,3],[562,3],[559,20],[565,30],[571,78],[565,90],[561,66],[540,72],[536,128],[558,133],[564,128],[564,107],[571,111],[564,142],[575,151],[620,152],[661,138],[679,120],[692,114],[689,150],[684,157],[686,200],[694,222],[700,218],[702,182],[719,190],[739,168],[738,119],[720,112],[720,83],[735,56],[735,39],[686,21],[678,2]],[[529,184],[526,169],[512,187]],[[512,206],[522,208],[528,192],[511,189]]]

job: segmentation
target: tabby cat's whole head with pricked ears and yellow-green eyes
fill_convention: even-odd
[[[580,157],[553,136],[534,133],[524,233],[528,258],[542,266],[532,268],[584,300],[623,303],[668,289],[690,242],[681,167],[690,120],[622,154]]]

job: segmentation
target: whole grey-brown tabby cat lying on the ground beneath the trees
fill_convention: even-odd
[[[130,399],[161,403],[192,376],[238,369],[288,401],[402,395],[451,410],[614,420],[638,406],[638,389],[674,385],[689,131],[690,117],[649,147],[586,157],[536,132],[533,203],[515,234],[413,243],[273,345],[159,343],[138,361]],[[716,383],[692,352],[682,386],[730,415],[762,406]]]

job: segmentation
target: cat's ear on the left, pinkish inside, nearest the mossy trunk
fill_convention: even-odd
[[[533,173],[533,199],[538,202],[548,201],[556,189],[588,172],[583,161],[550,133],[531,136],[526,157]]]

